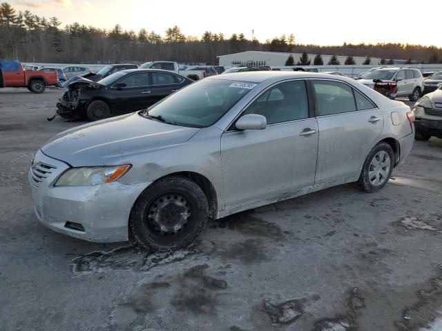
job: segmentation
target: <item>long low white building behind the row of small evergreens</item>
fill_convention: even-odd
[[[218,61],[220,66],[232,66],[235,62],[261,62],[262,66],[285,66],[285,61],[289,58],[289,56],[294,58],[295,64],[298,63],[301,53],[283,53],[283,52],[261,52],[259,50],[248,50],[247,52],[239,52],[233,54],[226,54],[218,56]],[[313,60],[316,57],[316,54],[308,54],[309,59],[311,60],[311,66],[313,66]],[[323,58],[324,64],[329,63],[332,55],[321,54]],[[338,55],[338,60],[340,64],[345,63],[345,59],[347,56]],[[365,61],[365,57],[353,57],[356,62],[356,66],[360,66]],[[381,61],[381,59],[377,57],[372,57],[372,65],[377,65]],[[265,64],[264,64],[265,63]]]

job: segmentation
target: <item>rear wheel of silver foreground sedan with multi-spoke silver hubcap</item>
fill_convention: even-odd
[[[378,143],[365,159],[359,185],[367,193],[377,192],[387,184],[394,167],[394,152],[388,143]]]

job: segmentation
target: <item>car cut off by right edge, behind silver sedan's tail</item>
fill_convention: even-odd
[[[432,136],[442,139],[442,87],[425,94],[413,108],[416,117],[416,140],[428,140]]]

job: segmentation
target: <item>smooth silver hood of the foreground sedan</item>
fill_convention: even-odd
[[[131,163],[137,154],[184,143],[198,130],[146,119],[135,112],[61,132],[41,151],[74,167]]]

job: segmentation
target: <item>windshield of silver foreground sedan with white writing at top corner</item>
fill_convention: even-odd
[[[203,79],[171,94],[160,103],[140,112],[169,123],[206,128],[218,121],[258,83],[224,79]]]

